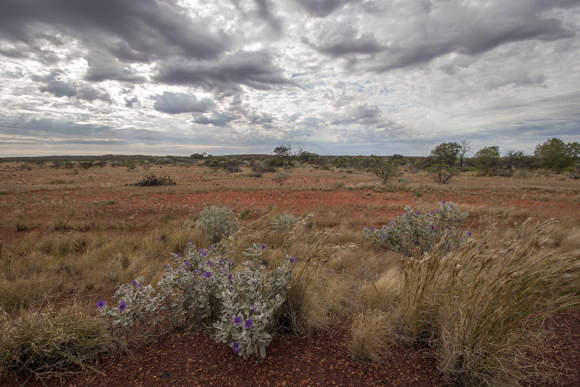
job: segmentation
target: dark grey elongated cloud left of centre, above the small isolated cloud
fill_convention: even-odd
[[[201,86],[218,91],[237,91],[239,85],[258,90],[271,90],[284,85],[296,85],[282,75],[267,51],[238,51],[219,62],[165,61],[158,67],[155,81],[168,85]]]

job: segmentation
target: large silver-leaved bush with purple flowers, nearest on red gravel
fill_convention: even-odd
[[[175,326],[194,324],[213,326],[215,341],[229,343],[244,359],[248,355],[266,357],[271,342],[274,312],[285,301],[290,288],[292,263],[284,260],[277,269],[267,271],[260,265],[264,244],[254,244],[244,252],[243,268],[234,272],[235,263],[224,258],[231,254],[225,247],[211,245],[199,251],[188,243],[187,254],[172,254],[173,265],[165,265],[159,281],[160,294],[142,278],[118,287],[118,306],[108,308],[97,303],[100,316],[109,320],[115,339],[122,339],[133,324],[142,326],[144,319],[161,321],[167,310]],[[213,323],[213,324],[212,324]]]

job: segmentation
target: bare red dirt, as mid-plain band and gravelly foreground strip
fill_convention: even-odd
[[[106,168],[107,169],[107,168]],[[226,179],[215,178],[211,173],[191,173],[193,171],[175,172],[169,168],[172,176],[177,173],[180,185],[215,187],[209,193],[179,193],[168,187],[161,191],[147,187],[126,187],[121,191],[111,191],[106,185],[118,185],[135,182],[138,174],[130,178],[117,176],[115,171],[95,171],[95,178],[85,185],[85,180],[73,185],[70,189],[38,189],[30,191],[30,196],[19,203],[23,212],[39,211],[38,205],[49,201],[66,198],[67,208],[98,208],[95,201],[103,202],[120,198],[117,204],[106,205],[110,214],[123,214],[132,217],[137,224],[143,224],[164,211],[171,212],[178,218],[186,218],[191,207],[200,208],[204,202],[213,202],[216,198],[240,213],[244,209],[267,208],[276,205],[279,211],[293,214],[333,214],[337,219],[350,219],[362,226],[369,218],[382,219],[388,222],[405,205],[413,204],[417,198],[413,193],[397,191],[395,193],[375,191],[345,191],[337,187],[335,191],[316,189],[316,185],[336,185],[340,181],[334,177],[294,177],[291,185],[303,186],[305,190],[286,191],[277,187],[268,179]],[[193,169],[193,168],[192,168]],[[34,171],[32,171],[34,172]],[[93,173],[93,172],[91,172]],[[125,174],[126,175],[126,174]],[[41,184],[48,179],[71,178],[82,180],[78,176],[64,171],[48,171],[33,174],[16,167],[0,171],[0,186],[28,187]],[[125,179],[125,180],[124,180]],[[464,180],[467,182],[469,178]],[[463,181],[463,180],[460,180]],[[482,180],[483,181],[483,180]],[[258,190],[239,190],[245,184],[260,185]],[[467,184],[467,183],[466,183]],[[236,190],[228,187],[236,186]],[[569,186],[569,185],[568,185]],[[179,187],[179,186],[178,186]],[[314,190],[306,190],[313,187]],[[578,188],[578,185],[576,185]],[[220,191],[221,189],[221,191]],[[150,193],[145,194],[150,190]],[[508,206],[514,209],[527,209],[550,216],[567,215],[576,221],[580,219],[578,200],[571,200],[577,194],[567,192],[552,194],[548,201],[534,190],[521,191],[526,198],[494,197],[494,187],[486,189],[463,189],[461,191],[422,198],[425,202],[440,200],[454,201],[461,204]],[[64,196],[63,196],[64,194]],[[131,195],[135,194],[135,195]],[[34,196],[42,197],[40,201]],[[2,202],[17,200],[19,194],[3,194]],[[538,197],[539,200],[535,200]],[[40,204],[39,204],[40,203]],[[395,204],[397,209],[385,209]],[[0,217],[10,215],[13,208],[0,208]],[[263,211],[262,211],[263,212]],[[249,218],[260,214],[250,214]],[[48,223],[50,213],[38,214],[39,219]],[[472,219],[469,226],[476,227],[478,219]],[[39,229],[46,227],[39,226]],[[0,230],[6,244],[18,243],[28,232],[14,232],[11,229]],[[110,295],[108,295],[110,296]],[[94,301],[103,295],[93,295]],[[563,361],[565,377],[563,384],[580,386],[580,311],[565,311],[546,323],[554,334],[553,348],[549,356],[554,362]],[[385,349],[383,362],[377,364],[357,363],[350,357],[349,325],[345,321],[335,325],[330,331],[313,332],[307,337],[276,336],[267,349],[263,361],[243,360],[229,348],[216,344],[211,338],[203,335],[191,335],[184,332],[173,332],[148,343],[142,348],[134,349],[132,356],[124,354],[112,359],[102,359],[99,372],[53,378],[44,381],[48,386],[445,386],[448,385],[438,374],[437,363],[421,352],[397,347]],[[559,359],[559,360],[558,360]],[[19,378],[0,378],[0,385],[41,386],[41,381]]]

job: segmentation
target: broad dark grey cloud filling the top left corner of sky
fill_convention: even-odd
[[[208,33],[207,26],[182,11],[173,1],[4,0],[0,34],[26,40],[44,24],[102,42],[125,60],[147,55],[213,59],[226,49],[225,35]]]

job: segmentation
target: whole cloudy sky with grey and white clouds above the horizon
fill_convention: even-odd
[[[0,156],[532,153],[579,47],[580,0],[0,0]]]

